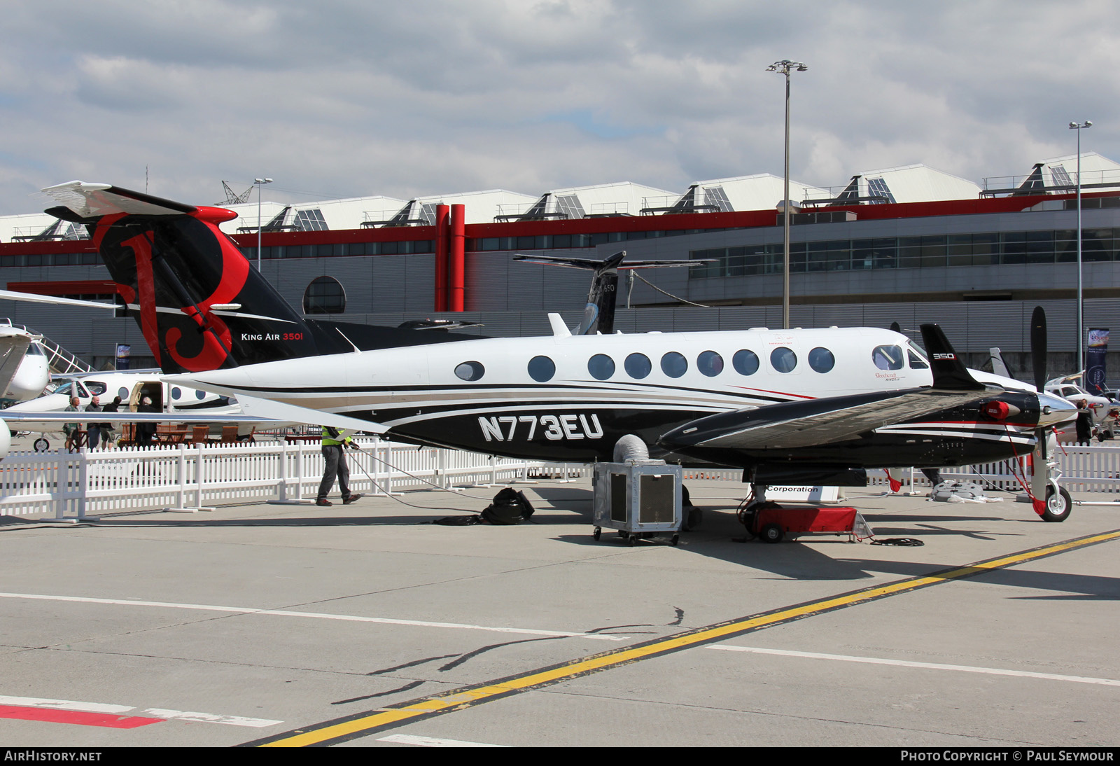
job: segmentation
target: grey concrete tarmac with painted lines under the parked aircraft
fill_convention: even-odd
[[[676,548],[592,540],[587,482],[524,485],[517,526],[427,523],[496,488],[0,517],[0,742],[1120,742],[1120,508],[849,489],[878,539],[925,544],[763,544],[734,541],[741,485],[688,485],[704,521]]]

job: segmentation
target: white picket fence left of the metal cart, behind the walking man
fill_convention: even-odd
[[[347,450],[349,484],[367,494],[498,484],[544,466],[379,439],[357,442],[362,451]],[[52,514],[62,521],[246,501],[302,502],[315,498],[323,469],[318,443],[13,452],[0,460],[0,515]]]

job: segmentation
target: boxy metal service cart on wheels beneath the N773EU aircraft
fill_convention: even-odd
[[[606,527],[617,530],[631,545],[663,533],[671,533],[675,545],[682,522],[683,478],[683,468],[660,460],[596,464],[595,539]]]

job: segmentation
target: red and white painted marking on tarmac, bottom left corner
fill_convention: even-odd
[[[137,714],[127,714],[136,712]],[[0,718],[22,721],[47,721],[50,723],[77,723],[78,726],[102,726],[112,729],[134,729],[164,721],[189,721],[192,723],[225,723],[263,728],[283,721],[243,716],[192,712],[187,710],[165,710],[149,708],[137,710],[129,704],[106,702],[80,702],[76,700],[48,700],[38,697],[4,697],[0,694]]]

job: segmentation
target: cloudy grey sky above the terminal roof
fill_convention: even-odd
[[[979,181],[1120,160],[1108,0],[38,0],[0,2],[0,215],[71,179],[189,203],[924,162]]]

